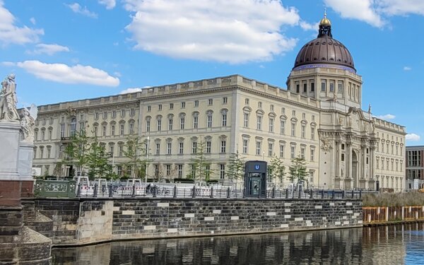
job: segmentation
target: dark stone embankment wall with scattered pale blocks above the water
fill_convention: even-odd
[[[37,199],[54,245],[360,227],[356,199]]]

